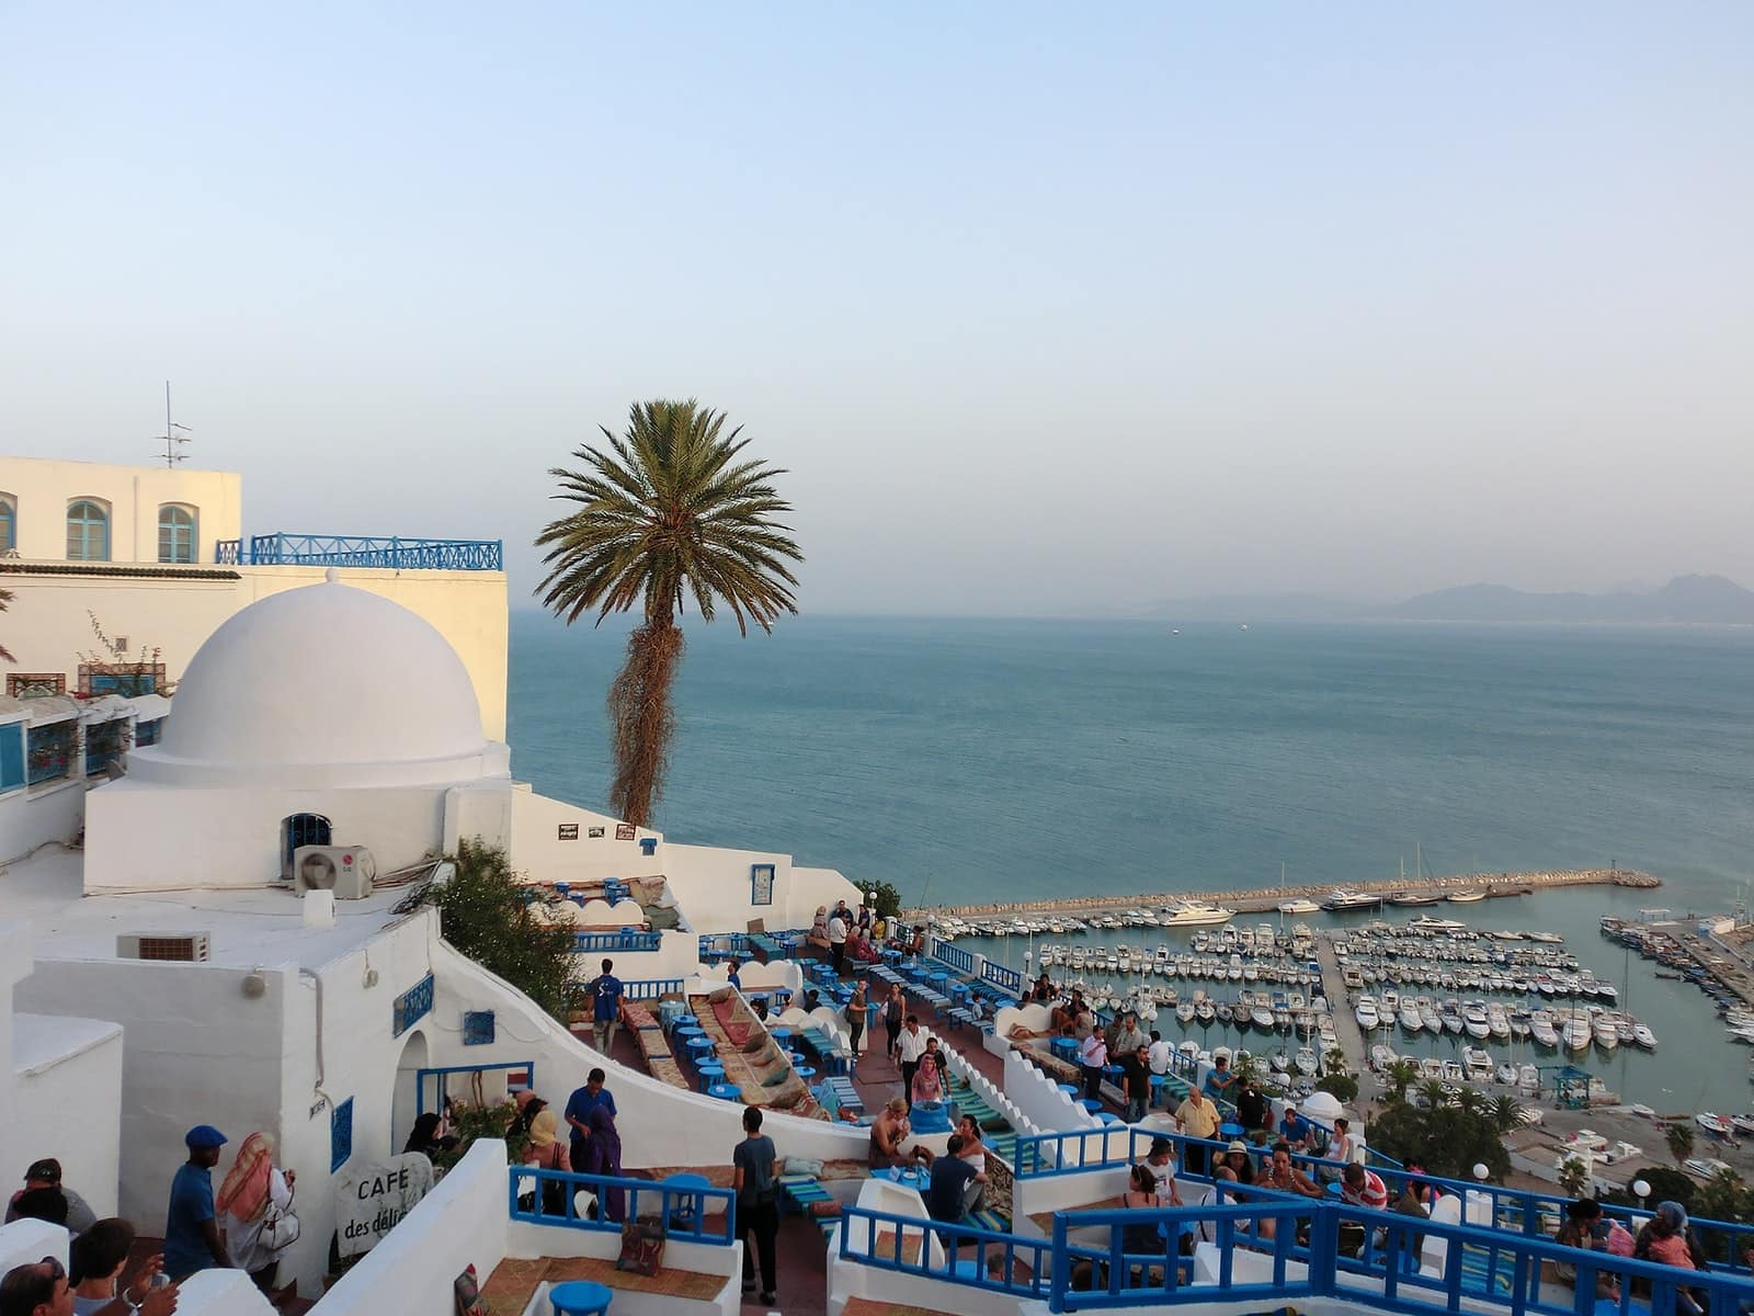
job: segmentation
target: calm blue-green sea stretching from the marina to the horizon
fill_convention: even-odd
[[[1586,1067],[1626,1100],[1750,1105],[1747,1051],[1719,1046],[1710,1002],[1601,939],[1598,918],[1743,898],[1754,630],[812,616],[772,635],[724,618],[686,630],[652,819],[674,840],[784,851],[926,905],[1642,869],[1663,888],[1438,912],[1561,932],[1622,983],[1659,1049]],[[603,697],[624,646],[621,619],[514,612],[507,739],[538,791],[607,800]],[[1028,951],[1021,937],[982,949],[1019,967]]]

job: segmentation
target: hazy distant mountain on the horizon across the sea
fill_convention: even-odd
[[[1538,595],[1507,584],[1463,584],[1377,609],[1415,621],[1687,621],[1754,625],[1754,593],[1722,576],[1677,576],[1659,590]]]

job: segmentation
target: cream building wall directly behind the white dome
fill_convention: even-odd
[[[0,461],[0,490],[7,490],[5,479],[5,463]],[[158,533],[156,521],[153,533]],[[326,572],[324,567],[172,567],[165,570],[177,572],[177,577],[167,579],[96,574],[32,576],[25,567],[7,570],[11,565],[0,563],[0,584],[14,595],[5,614],[5,647],[18,662],[0,670],[60,672],[67,676],[68,690],[77,684],[82,656],[112,660],[98,642],[93,625],[102,626],[112,640],[125,637],[130,658],[139,656],[142,649],[158,651],[156,662],[165,663],[165,676],[175,681],[202,642],[233,612],[281,590],[317,584]],[[223,572],[223,576],[198,579],[196,570]],[[482,732],[489,740],[503,740],[505,574],[395,572],[372,567],[342,567],[339,572],[342,583],[402,604],[430,621],[451,642],[475,686]],[[347,637],[337,635],[335,642],[346,644]],[[361,653],[360,662],[395,663],[396,654]],[[263,693],[272,695],[272,691]]]

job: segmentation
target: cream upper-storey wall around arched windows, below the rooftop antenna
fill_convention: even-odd
[[[196,561],[212,561],[214,544],[244,525],[244,477],[233,470],[0,456],[0,493],[18,507],[18,556],[46,561],[67,558],[67,507],[79,498],[109,509],[111,561],[158,561],[163,504],[196,512]]]

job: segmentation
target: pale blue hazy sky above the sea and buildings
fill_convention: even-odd
[[[14,0],[0,451],[168,377],[247,530],[514,602],[665,395],[812,611],[1754,584],[1754,5],[1217,9]]]

